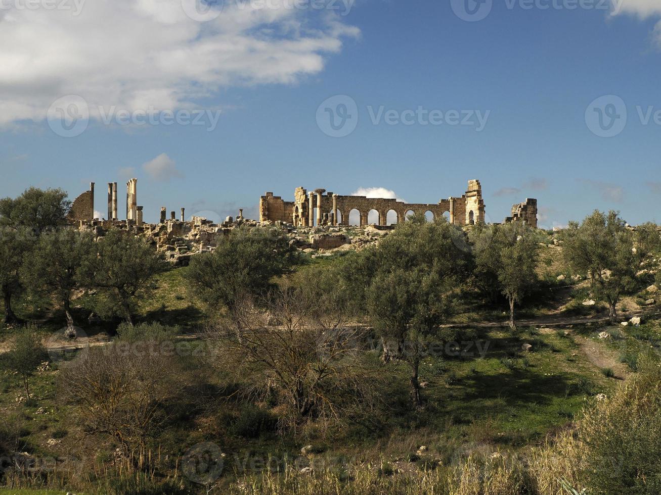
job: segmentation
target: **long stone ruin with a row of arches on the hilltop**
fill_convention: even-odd
[[[293,201],[284,201],[280,196],[267,192],[259,200],[260,222],[285,222],[295,227],[322,225],[349,225],[349,216],[356,211],[360,225],[368,225],[370,211],[378,214],[377,225],[388,224],[387,216],[393,212],[395,223],[402,222],[410,212],[440,218],[446,215],[454,225],[472,225],[485,221],[485,202],[479,180],[469,180],[468,189],[461,197],[441,199],[438,203],[404,203],[390,198],[368,198],[366,196],[343,196],[325,189],[307,191],[297,187]],[[391,215],[392,217],[393,215]]]

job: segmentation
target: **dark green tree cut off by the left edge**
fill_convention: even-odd
[[[12,298],[22,290],[20,266],[23,257],[34,244],[34,234],[25,228],[0,227],[0,290],[5,312],[3,323],[16,323],[18,318],[12,308]]]

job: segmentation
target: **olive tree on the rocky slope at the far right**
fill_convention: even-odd
[[[588,275],[592,294],[607,302],[611,323],[616,323],[621,296],[639,286],[642,265],[658,251],[656,228],[631,230],[617,212],[594,211],[581,224],[570,222],[563,240],[566,260]]]

